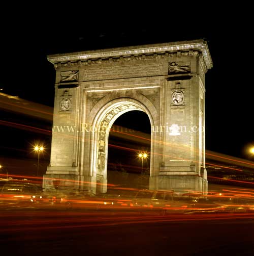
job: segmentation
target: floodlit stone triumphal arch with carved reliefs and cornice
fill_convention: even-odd
[[[204,40],[56,54],[51,161],[45,189],[107,190],[110,127],[123,113],[151,123],[149,188],[207,191]],[[135,120],[138,121],[138,120]]]

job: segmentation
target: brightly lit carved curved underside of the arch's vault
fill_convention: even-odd
[[[140,95],[141,96],[141,95]],[[142,96],[140,97],[142,100]],[[143,98],[144,100],[144,98]],[[144,100],[147,101],[147,100]],[[148,102],[147,102],[148,103]],[[147,104],[146,103],[146,104]],[[151,104],[147,104],[146,107],[141,101],[134,98],[119,97],[109,101],[104,105],[97,113],[93,121],[93,127],[97,127],[97,131],[92,135],[92,148],[90,159],[90,175],[97,178],[97,181],[101,181],[104,186],[107,184],[107,156],[108,156],[108,138],[109,132],[114,121],[122,114],[138,110],[145,112],[149,119],[151,126],[153,126],[153,116],[156,115],[156,111]],[[150,105],[150,106],[149,106]],[[150,110],[149,110],[150,109]],[[151,137],[151,176],[154,175],[153,159],[154,159],[154,136]],[[106,187],[104,188],[104,191]]]

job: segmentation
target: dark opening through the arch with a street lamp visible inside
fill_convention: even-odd
[[[107,180],[122,188],[149,189],[151,124],[142,111],[119,116],[109,133]],[[147,158],[138,157],[147,152]],[[110,186],[108,186],[110,191]]]

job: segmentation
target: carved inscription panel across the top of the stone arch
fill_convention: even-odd
[[[100,68],[87,68],[80,71],[82,81],[135,78],[141,76],[161,75],[162,63],[151,63],[145,65],[122,65]]]

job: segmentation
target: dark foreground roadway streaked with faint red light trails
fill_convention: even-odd
[[[253,213],[1,210],[8,255],[253,255]]]

